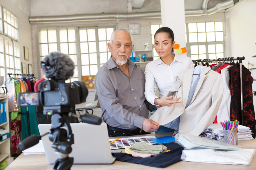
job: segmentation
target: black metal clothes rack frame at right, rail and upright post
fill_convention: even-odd
[[[241,117],[242,117],[242,125],[243,125],[243,80],[242,80],[242,60],[243,57],[228,57],[228,58],[218,58],[218,59],[203,59],[203,60],[192,60],[193,62],[197,63],[208,63],[208,62],[225,62],[225,61],[237,61],[239,63],[239,70],[240,70],[240,84],[241,84]]]

